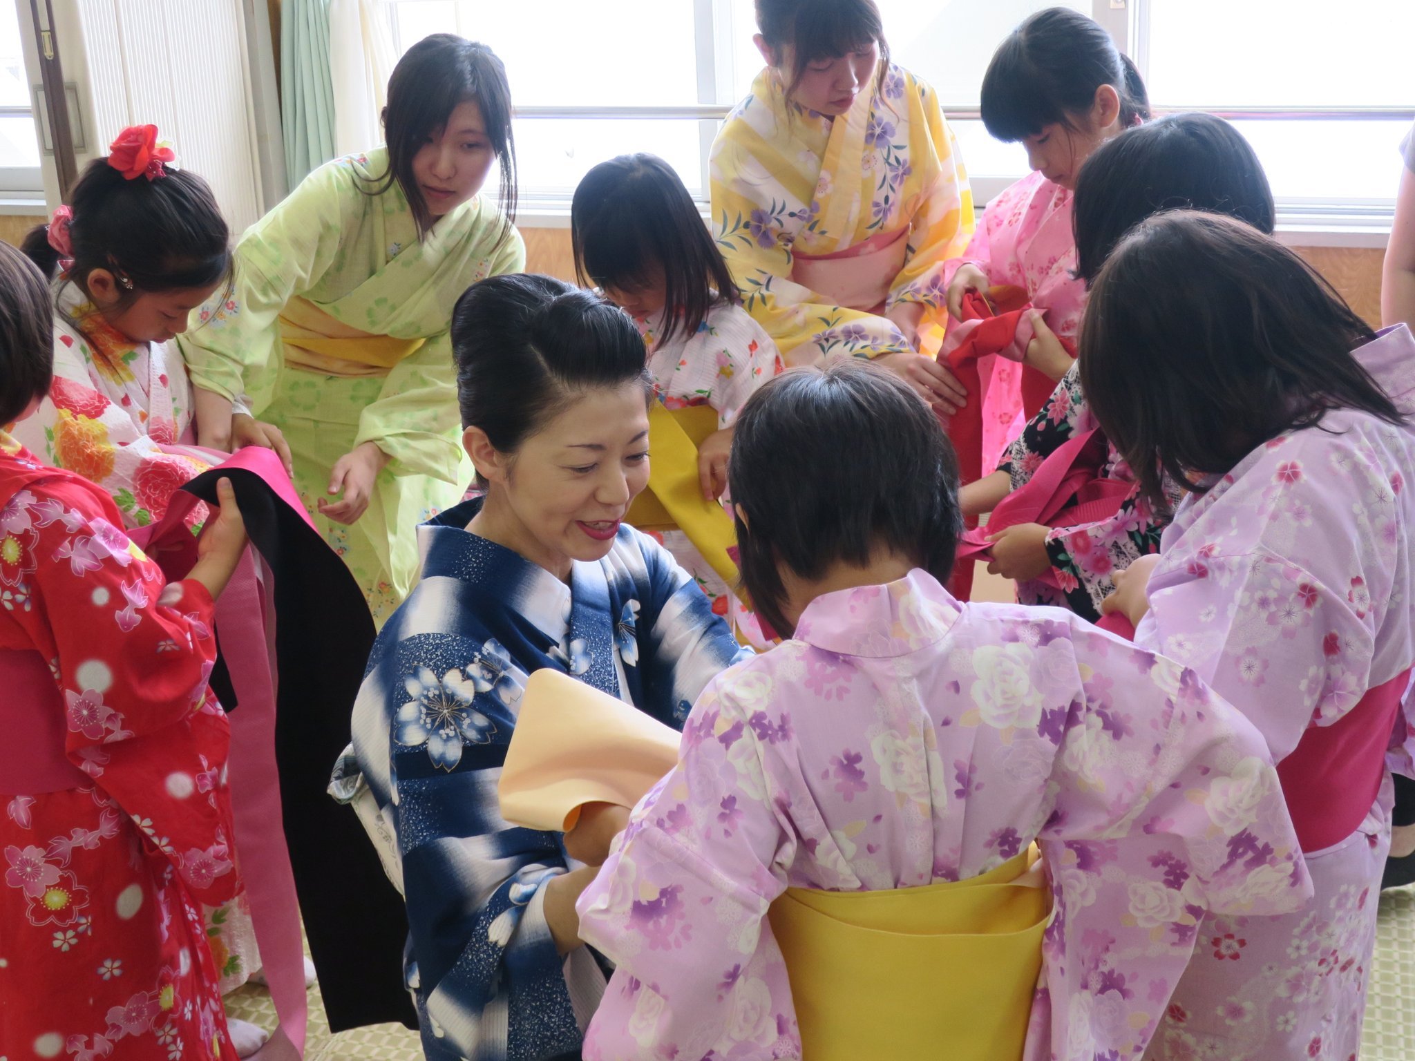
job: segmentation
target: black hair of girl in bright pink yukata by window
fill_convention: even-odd
[[[982,123],[1007,143],[1049,124],[1074,129],[1074,116],[1090,113],[1101,85],[1121,98],[1121,127],[1149,120],[1145,81],[1111,34],[1080,11],[1049,7],[993,52],[982,78]]]

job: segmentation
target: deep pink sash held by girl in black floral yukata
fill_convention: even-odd
[[[964,532],[958,563],[971,566],[974,560],[985,557],[992,549],[988,535],[1009,526],[1081,526],[1114,516],[1135,492],[1135,484],[1104,478],[1101,465],[1105,454],[1107,440],[1099,430],[1067,439],[1041,463],[1026,485],[998,504],[985,528]],[[1049,569],[1037,581],[1057,586],[1056,572]]]

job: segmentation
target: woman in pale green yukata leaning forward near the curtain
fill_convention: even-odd
[[[511,91],[490,48],[415,44],[383,127],[386,147],[320,167],[246,231],[233,291],[198,308],[204,327],[181,344],[201,444],[231,447],[216,424],[233,400],[284,433],[300,497],[379,625],[416,579],[416,526],[471,480],[453,306],[525,267]],[[492,163],[495,202],[480,194]]]

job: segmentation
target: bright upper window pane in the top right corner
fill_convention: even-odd
[[[1156,103],[1415,103],[1409,59],[1415,4],[1409,0],[1347,6],[1332,0],[1150,0],[1149,13],[1148,82]]]

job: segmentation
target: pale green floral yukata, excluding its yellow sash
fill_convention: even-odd
[[[235,289],[194,314],[181,337],[192,383],[249,396],[256,416],[284,433],[294,484],[325,540],[344,556],[382,622],[417,574],[413,530],[454,505],[471,480],[457,414],[449,327],[477,280],[525,267],[525,246],[483,195],[417,238],[396,181],[379,194],[388,150],[320,167],[258,221],[236,246]],[[280,314],[313,303],[369,337],[422,340],[392,368],[314,371],[287,364]],[[198,324],[201,327],[198,327]],[[352,526],[318,514],[334,463],[375,443],[389,464]]]

